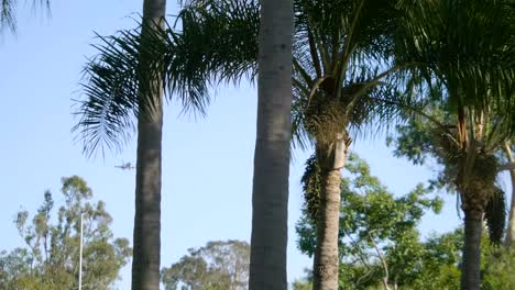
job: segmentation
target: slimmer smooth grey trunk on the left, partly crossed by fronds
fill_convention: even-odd
[[[144,0],[142,45],[145,45],[145,35],[149,30],[163,25],[165,10],[165,0]],[[144,69],[146,57],[151,56],[141,55],[142,67],[140,69]],[[133,290],[160,289],[163,91],[158,79],[153,80],[150,87],[152,88],[151,96],[140,93],[138,116]]]

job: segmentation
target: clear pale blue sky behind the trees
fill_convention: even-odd
[[[23,2],[23,1],[21,1]],[[135,161],[135,138],[122,154],[87,159],[70,133],[76,120],[72,98],[80,98],[80,71],[92,56],[94,31],[112,34],[133,27],[141,11],[135,0],[52,0],[52,16],[20,7],[17,36],[0,36],[0,249],[23,244],[13,224],[20,209],[34,212],[45,189],[58,193],[59,179],[78,175],[113,216],[116,236],[132,239],[134,171],[114,168]],[[177,9],[168,1],[168,13]],[[163,138],[162,266],[213,239],[250,239],[252,158],[256,90],[219,88],[207,118],[180,115],[179,104],[165,109]],[[392,157],[383,138],[358,140],[354,149],[397,194],[434,175]],[[295,152],[289,198],[288,279],[303,276],[311,261],[296,249],[294,225],[302,207],[300,175],[308,153]],[[443,213],[426,215],[421,230],[446,232],[458,226],[454,197],[443,194]],[[120,289],[130,289],[130,267]]]

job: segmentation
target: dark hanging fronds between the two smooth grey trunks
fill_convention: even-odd
[[[255,1],[193,0],[185,4],[175,25],[180,26],[177,45],[169,46],[173,49],[165,58],[169,94],[201,101],[209,85],[253,79],[259,25]]]

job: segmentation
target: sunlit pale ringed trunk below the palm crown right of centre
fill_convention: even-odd
[[[331,154],[317,150],[320,155],[330,156],[322,160],[322,192],[317,216],[317,246],[314,257],[314,290],[338,290],[338,232],[340,228],[341,168],[347,159],[349,142],[343,135],[338,136]]]

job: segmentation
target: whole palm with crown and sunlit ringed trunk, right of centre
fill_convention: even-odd
[[[298,141],[315,144],[321,175],[314,289],[338,289],[340,170],[349,130],[381,119],[374,97],[390,93],[381,86],[409,66],[390,57],[399,13],[395,1],[298,1],[294,127]]]

